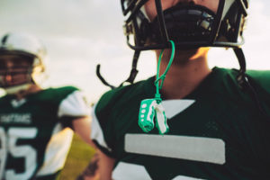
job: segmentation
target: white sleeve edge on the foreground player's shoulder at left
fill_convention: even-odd
[[[96,107],[96,104],[94,105],[94,108],[92,110],[93,120],[92,120],[92,127],[91,127],[91,139],[96,140],[98,144],[102,146],[103,148],[107,148],[109,151],[112,151],[112,149],[109,148],[109,146],[105,142],[105,139],[103,136],[103,130],[100,127],[99,121],[95,115],[95,107]]]

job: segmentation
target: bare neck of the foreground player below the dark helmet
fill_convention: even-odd
[[[206,56],[201,56],[193,60],[187,60],[170,67],[166,74],[166,79],[162,87],[162,94],[166,99],[181,99],[193,90],[202,82],[202,80],[211,73],[208,67]],[[161,73],[166,69],[166,64],[163,63],[160,67]]]

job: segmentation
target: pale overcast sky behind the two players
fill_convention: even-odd
[[[247,67],[270,69],[269,0],[250,0],[246,44]],[[122,34],[120,0],[0,0],[0,35],[23,31],[36,35],[48,49],[48,86],[76,85],[95,102],[109,90],[95,76],[119,85],[130,73],[133,51]],[[210,66],[238,67],[231,50],[211,49]],[[139,58],[136,80],[154,75],[153,52]]]

